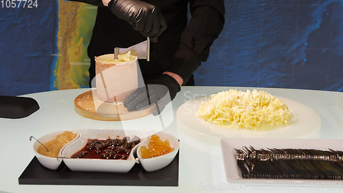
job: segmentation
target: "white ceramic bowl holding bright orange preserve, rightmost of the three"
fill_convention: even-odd
[[[174,151],[169,152],[166,155],[143,159],[141,158],[141,147],[147,147],[147,144],[149,144],[150,142],[151,136],[146,137],[137,148],[137,157],[139,158],[139,163],[147,172],[154,172],[156,170],[161,170],[162,168],[168,166],[169,163],[171,163],[171,161],[174,160],[176,154],[178,153],[178,148],[180,146],[180,142],[178,141],[178,139],[176,139],[176,137],[174,137],[174,135],[170,135],[169,133],[165,133],[163,131],[160,131],[155,135],[157,135],[161,139],[168,139],[170,147],[174,148]]]

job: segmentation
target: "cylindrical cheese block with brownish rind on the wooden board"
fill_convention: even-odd
[[[137,57],[106,54],[95,58],[97,97],[104,102],[123,102],[138,88]]]

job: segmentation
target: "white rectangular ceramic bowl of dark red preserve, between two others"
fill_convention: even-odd
[[[122,139],[129,136],[131,139],[137,135],[143,139],[146,137],[145,132],[141,130],[114,130],[114,129],[81,129],[78,140],[73,141],[62,151],[64,163],[72,171],[87,171],[87,172],[120,172],[126,173],[131,170],[136,163],[131,151],[128,159],[73,159],[70,158],[75,152],[78,152],[86,146],[88,139],[111,139],[119,137]],[[137,145],[138,146],[138,145]],[[137,147],[136,146],[136,147]]]

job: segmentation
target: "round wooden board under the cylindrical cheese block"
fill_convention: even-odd
[[[74,100],[74,109],[82,117],[99,121],[134,120],[151,115],[156,105],[142,111],[128,111],[123,104],[103,102],[97,98],[96,90],[78,95]]]

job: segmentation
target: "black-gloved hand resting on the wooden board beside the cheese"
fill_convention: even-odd
[[[129,111],[141,111],[156,104],[153,115],[159,115],[180,91],[180,84],[167,74],[145,80],[145,87],[138,88],[124,101]],[[169,98],[169,94],[170,98]]]

